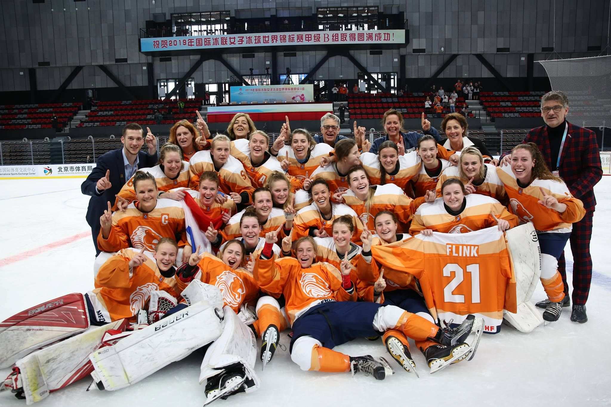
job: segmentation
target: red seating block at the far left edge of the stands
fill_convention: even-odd
[[[80,107],[80,102],[0,105],[0,129],[51,129],[53,116],[63,128]]]

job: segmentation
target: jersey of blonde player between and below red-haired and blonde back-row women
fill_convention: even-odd
[[[230,192],[247,192],[249,200],[252,200],[251,179],[246,175],[244,165],[235,157],[229,156],[227,162],[220,170],[216,171],[210,151],[198,151],[193,154],[189,161],[189,186],[192,189],[199,189],[199,178],[204,171],[214,171],[219,176],[219,191],[225,194]]]

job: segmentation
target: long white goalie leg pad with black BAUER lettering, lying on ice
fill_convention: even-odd
[[[218,311],[201,301],[135,331],[116,345],[93,352],[89,359],[94,377],[106,390],[122,389],[180,361],[221,332]]]

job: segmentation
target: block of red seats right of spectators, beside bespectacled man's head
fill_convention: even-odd
[[[540,117],[545,92],[481,92],[480,100],[490,117]]]

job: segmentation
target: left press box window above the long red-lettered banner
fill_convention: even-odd
[[[172,14],[172,29],[176,37],[227,34],[229,19],[229,10]]]

